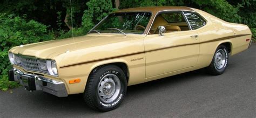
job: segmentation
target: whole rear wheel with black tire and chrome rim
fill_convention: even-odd
[[[228,64],[227,47],[220,45],[214,53],[210,66],[206,67],[206,71],[212,75],[223,74]]]

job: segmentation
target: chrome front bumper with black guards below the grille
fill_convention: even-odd
[[[68,96],[64,82],[44,78],[41,75],[23,73],[16,68],[9,70],[9,81],[19,81],[30,92],[44,91],[58,97]]]

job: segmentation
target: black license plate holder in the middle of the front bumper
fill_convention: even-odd
[[[22,75],[22,82],[24,84],[24,87],[28,91],[35,91],[36,90],[36,82],[35,77],[31,75]]]

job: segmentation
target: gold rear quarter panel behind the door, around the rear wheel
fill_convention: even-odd
[[[248,48],[252,33],[248,26],[228,23],[207,12],[197,10],[207,20],[207,24],[197,29],[200,40],[200,52],[197,68],[210,65],[217,47],[223,43],[231,45],[231,55],[242,52]]]

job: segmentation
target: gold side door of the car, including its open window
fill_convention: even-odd
[[[146,79],[191,68],[197,64],[199,39],[190,30],[183,12],[161,12],[154,19],[150,34],[144,39]],[[165,26],[160,36],[157,27]],[[147,81],[147,80],[146,80]]]

